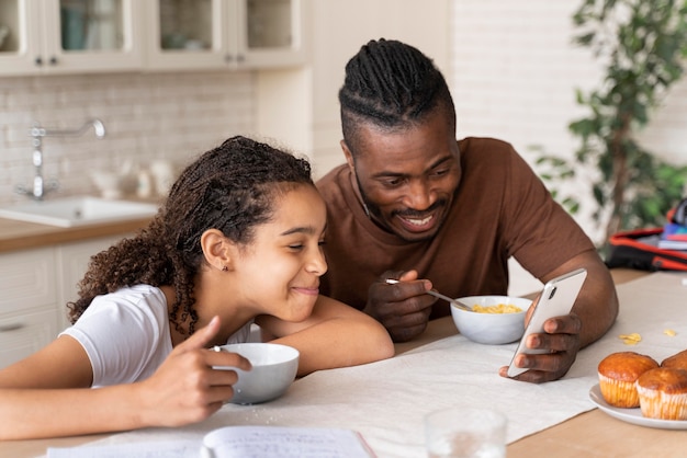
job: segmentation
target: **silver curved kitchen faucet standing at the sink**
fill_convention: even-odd
[[[83,135],[91,126],[95,130],[95,137],[103,138],[105,136],[105,126],[102,124],[102,121],[98,118],[89,119],[81,127],[72,130],[49,130],[41,127],[40,123],[35,123],[29,130],[32,137],[33,165],[35,168],[33,187],[27,188],[26,186],[19,185],[16,186],[16,192],[27,195],[34,201],[43,201],[43,197],[48,191],[55,191],[58,187],[57,182],[45,183],[43,179],[43,137],[78,137]]]

